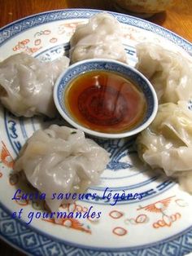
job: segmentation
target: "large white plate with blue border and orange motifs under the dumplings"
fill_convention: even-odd
[[[0,30],[0,58],[25,51],[47,61],[68,54],[68,42],[77,24],[86,23],[94,10],[50,11],[29,16]],[[156,42],[191,60],[192,45],[174,33],[146,20],[111,13],[124,29],[124,48],[129,64],[137,61],[137,42]],[[17,188],[31,192],[12,166],[20,148],[34,130],[62,122],[43,117],[17,118],[0,109],[0,235],[32,255],[185,255],[192,251],[192,200],[177,183],[155,173],[137,157],[134,139],[98,139],[111,152],[101,183],[89,188],[97,201],[76,201],[60,211],[100,211],[98,221],[63,219],[59,223],[41,218],[43,202],[15,201]],[[105,196],[103,193],[105,192]],[[128,194],[141,194],[129,197]],[[103,199],[104,197],[104,199]],[[116,199],[117,198],[117,199]],[[20,218],[13,218],[15,214]],[[29,223],[29,216],[33,216]],[[32,218],[32,217],[31,217]],[[29,224],[27,224],[29,223]]]

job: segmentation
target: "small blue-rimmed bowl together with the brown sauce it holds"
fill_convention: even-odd
[[[158,107],[142,73],[104,59],[72,64],[55,83],[54,100],[70,125],[105,139],[136,135],[150,125]]]

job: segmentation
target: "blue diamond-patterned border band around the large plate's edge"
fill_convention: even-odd
[[[65,9],[46,11],[37,15],[30,15],[21,20],[8,24],[0,29],[0,46],[2,46],[9,38],[14,38],[15,35],[24,32],[41,24],[54,22],[58,20],[72,19],[89,19],[101,10],[91,9]],[[168,29],[164,29],[159,25],[152,24],[149,21],[139,19],[137,17],[124,15],[116,12],[111,12],[116,19],[123,24],[130,24],[134,27],[145,29],[156,33],[169,41],[174,42],[177,46],[181,46],[185,51],[192,55],[192,44],[185,39],[172,33]],[[10,227],[7,232],[7,227]],[[0,236],[4,241],[13,245],[15,248],[32,255],[174,255],[180,256],[188,254],[192,251],[192,227],[188,227],[177,235],[171,236],[168,239],[158,241],[149,245],[140,245],[135,247],[126,247],[121,249],[111,248],[92,248],[84,245],[75,245],[67,241],[60,241],[47,233],[39,232],[33,227],[26,227],[24,222],[13,219],[10,216],[9,210],[5,205],[0,203]],[[28,239],[33,243],[28,245]]]

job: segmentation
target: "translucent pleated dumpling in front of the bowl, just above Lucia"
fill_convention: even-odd
[[[85,192],[99,182],[108,161],[108,152],[85,139],[83,131],[52,125],[28,139],[14,169],[24,170],[28,182],[46,193],[46,204],[55,211],[62,201],[51,200],[53,193]]]

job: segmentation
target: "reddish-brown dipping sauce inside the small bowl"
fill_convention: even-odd
[[[74,78],[64,100],[81,126],[103,133],[132,130],[146,114],[142,90],[127,78],[108,71],[83,73]]]

